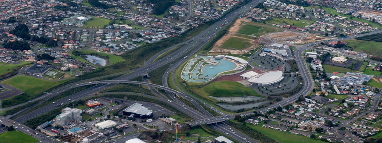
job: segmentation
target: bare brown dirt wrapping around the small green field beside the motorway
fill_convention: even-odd
[[[253,38],[249,39],[249,38],[244,38],[244,37],[240,37],[240,36],[236,35],[236,34],[238,34],[238,31],[240,30],[240,28],[243,25],[246,25],[248,23],[254,24],[254,22],[249,21],[247,19],[237,19],[235,21],[235,23],[232,24],[230,29],[228,29],[228,33],[226,35],[224,35],[222,38],[220,38],[214,44],[213,48],[209,51],[209,53],[219,53],[219,54],[220,53],[232,53],[232,54],[236,54],[236,55],[241,55],[244,53],[248,53],[249,51],[251,51],[253,49],[258,48],[259,47],[259,41],[258,41],[259,37],[247,35],[247,37],[253,37]],[[256,24],[256,25],[261,25],[261,24]],[[261,26],[267,26],[267,25],[261,25]],[[267,27],[270,27],[270,26],[267,26]],[[272,27],[272,28],[275,28],[275,27]],[[243,35],[243,34],[241,34],[241,35]],[[249,43],[251,43],[251,46],[249,46],[248,48],[245,48],[245,49],[240,49],[240,50],[229,50],[229,49],[221,48],[222,45],[231,37],[237,37],[240,39],[250,40]]]

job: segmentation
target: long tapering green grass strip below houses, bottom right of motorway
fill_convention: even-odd
[[[282,143],[326,143],[325,141],[315,140],[315,139],[305,137],[302,135],[294,135],[288,132],[282,132],[279,130],[264,128],[264,127],[261,127],[260,125],[259,126],[251,125],[251,124],[246,124],[246,125]]]

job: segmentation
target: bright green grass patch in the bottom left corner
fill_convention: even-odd
[[[36,138],[16,130],[0,134],[1,143],[38,143]]]

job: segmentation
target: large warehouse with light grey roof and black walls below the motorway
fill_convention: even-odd
[[[151,110],[143,106],[142,104],[134,103],[130,107],[123,110],[123,115],[136,118],[151,118],[153,116]]]

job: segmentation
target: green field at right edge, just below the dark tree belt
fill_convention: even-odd
[[[382,42],[350,39],[345,40],[347,46],[353,47],[354,51],[360,51],[373,56],[382,55]]]

